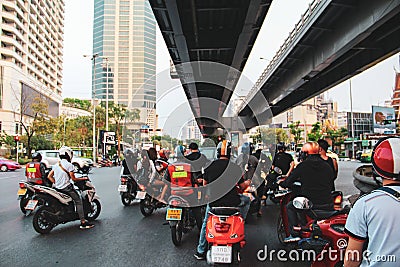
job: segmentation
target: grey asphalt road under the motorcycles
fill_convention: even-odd
[[[339,162],[336,187],[345,195],[357,192],[352,172],[359,165]],[[32,216],[25,217],[19,209],[16,193],[24,170],[0,173],[0,266],[207,266],[193,257],[197,230],[184,235],[182,246],[175,247],[165,225],[165,209],[144,218],[137,204],[122,205],[117,191],[119,171],[118,167],[100,168],[90,175],[102,204],[94,228],[81,230],[75,221],[58,225],[48,235],[36,233]],[[267,202],[263,216],[251,217],[246,224],[241,266],[309,266],[280,262],[276,254],[265,261],[257,259],[259,250],[267,248],[271,253],[283,248],[276,236],[277,215],[278,206]]]

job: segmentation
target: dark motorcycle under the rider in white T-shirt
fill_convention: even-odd
[[[94,221],[100,215],[101,204],[90,180],[75,182],[82,197],[85,218]],[[35,185],[34,200],[30,200],[27,209],[36,210],[33,216],[33,228],[40,234],[48,234],[60,223],[79,220],[75,204],[69,195],[56,189]],[[42,204],[38,205],[42,201]]]

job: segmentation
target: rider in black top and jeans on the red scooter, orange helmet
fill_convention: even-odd
[[[242,178],[242,171],[240,167],[230,161],[230,156],[231,142],[228,140],[223,140],[219,142],[217,146],[217,159],[211,162],[207,169],[205,169],[205,183],[212,183],[219,179],[222,179],[223,181],[225,179],[234,179],[235,181],[238,181],[237,185],[241,189],[245,189],[250,185],[250,180],[245,181]],[[210,191],[210,195],[213,198],[217,193],[219,193],[219,188],[211,187]],[[205,252],[207,249],[206,227],[210,207],[238,207],[240,209],[240,213],[242,214],[243,219],[246,219],[247,212],[250,207],[250,199],[244,195],[240,195],[238,193],[237,187],[233,186],[233,188],[229,190],[225,195],[207,205],[205,216],[203,219],[203,225],[200,231],[199,245],[197,246],[196,254],[194,254],[194,257],[198,260],[205,259]]]

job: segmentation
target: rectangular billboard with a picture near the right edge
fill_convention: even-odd
[[[372,121],[374,133],[395,134],[396,118],[394,108],[372,106]]]

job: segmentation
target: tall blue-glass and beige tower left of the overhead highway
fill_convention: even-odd
[[[137,128],[156,127],[156,21],[149,2],[95,0],[93,54],[94,97],[105,100],[108,88],[110,101],[140,110]]]

